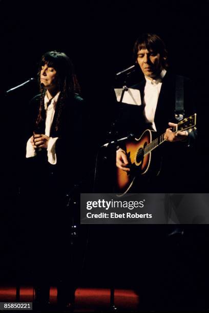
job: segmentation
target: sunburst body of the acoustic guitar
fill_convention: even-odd
[[[145,174],[150,166],[151,152],[144,155],[144,148],[152,142],[152,131],[145,130],[139,139],[135,138],[126,143],[127,158],[130,172],[117,168],[117,190],[123,195],[126,193],[135,180],[136,175]]]

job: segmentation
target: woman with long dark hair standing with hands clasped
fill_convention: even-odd
[[[33,218],[35,302],[47,305],[50,284],[56,281],[58,304],[65,307],[75,291],[70,237],[74,216],[72,206],[67,206],[67,193],[81,177],[83,100],[65,53],[45,53],[38,79],[40,95],[30,103],[24,188],[27,212]]]

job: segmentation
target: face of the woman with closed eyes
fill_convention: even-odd
[[[57,88],[57,72],[47,64],[41,66],[40,82],[44,84],[47,90]]]

